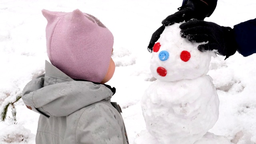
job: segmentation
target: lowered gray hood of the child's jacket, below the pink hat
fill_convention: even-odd
[[[106,84],[73,80],[46,61],[45,74],[25,86],[22,100],[46,117],[68,116],[95,102],[110,101],[114,92]]]

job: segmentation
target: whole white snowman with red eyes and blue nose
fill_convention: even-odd
[[[155,43],[150,70],[157,80],[141,100],[146,128],[157,144],[194,144],[219,116],[216,88],[207,75],[216,54],[200,52],[199,43],[180,36],[179,26],[166,26]]]

